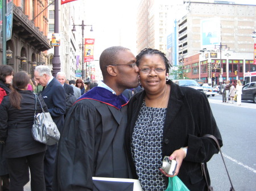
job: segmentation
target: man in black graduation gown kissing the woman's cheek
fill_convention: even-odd
[[[133,53],[122,46],[100,56],[103,81],[69,109],[57,151],[53,190],[93,190],[92,177],[128,178],[124,136],[127,99],[121,93],[138,86]]]

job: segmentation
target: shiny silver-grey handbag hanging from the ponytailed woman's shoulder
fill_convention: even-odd
[[[53,122],[51,114],[45,112],[38,95],[35,95],[35,114],[34,125],[32,126],[32,137],[35,141],[44,143],[46,145],[55,145],[60,139],[60,132],[57,129],[55,122]],[[36,114],[37,100],[39,101],[42,113]]]

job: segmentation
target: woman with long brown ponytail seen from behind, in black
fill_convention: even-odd
[[[24,71],[14,74],[12,90],[0,105],[0,139],[5,146],[10,191],[23,191],[23,186],[30,180],[28,168],[31,173],[31,191],[46,190],[43,161],[47,146],[32,137],[35,96],[27,90],[29,82],[30,77]],[[48,112],[43,98],[39,98],[44,111]],[[39,103],[36,108],[36,113],[42,112]]]

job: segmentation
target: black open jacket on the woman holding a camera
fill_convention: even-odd
[[[212,139],[202,138],[202,136],[212,134],[222,146],[220,131],[205,94],[190,87],[180,87],[170,80],[167,84],[171,84],[171,93],[163,129],[162,157],[170,156],[180,147],[188,146],[187,156],[183,160],[177,176],[191,191],[207,190],[200,163],[208,162],[213,154],[218,152],[218,148]],[[131,156],[130,143],[145,95],[145,91],[135,94],[131,98],[128,108],[125,143],[134,179],[137,179],[137,173]],[[207,167],[206,171],[208,173]]]

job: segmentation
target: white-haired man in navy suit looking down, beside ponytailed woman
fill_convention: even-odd
[[[48,111],[57,128],[61,133],[64,122],[65,90],[56,78],[52,77],[51,70],[48,66],[36,66],[35,80],[43,86],[41,93]],[[44,179],[46,180],[46,190],[52,190],[53,167],[56,158],[57,144],[48,146],[44,156]]]

